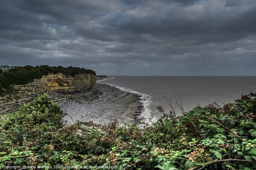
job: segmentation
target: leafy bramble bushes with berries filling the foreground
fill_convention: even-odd
[[[153,126],[142,120],[126,127],[116,121],[106,126],[79,121],[64,125],[59,106],[40,96],[1,120],[0,168],[256,169],[256,94],[222,108],[198,106],[183,116],[158,109],[163,116]]]

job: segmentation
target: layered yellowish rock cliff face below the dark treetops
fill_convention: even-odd
[[[93,74],[78,74],[74,77],[66,77],[61,73],[48,74],[26,85],[15,85],[18,92],[13,95],[0,96],[0,113],[32,101],[41,93],[48,94],[58,103],[84,98],[84,94],[93,88],[95,82],[96,76]]]

